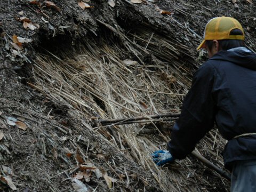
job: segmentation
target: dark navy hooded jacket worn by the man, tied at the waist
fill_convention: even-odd
[[[256,159],[256,135],[233,139],[256,133],[256,54],[220,51],[196,71],[168,143],[173,157],[190,154],[214,122],[228,140],[223,151],[228,169],[234,161]]]

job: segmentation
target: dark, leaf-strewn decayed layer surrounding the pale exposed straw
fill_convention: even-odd
[[[135,158],[127,158],[127,151],[115,148],[106,140],[106,135],[102,134],[100,137],[87,129],[85,123],[75,118],[67,105],[50,99],[45,92],[31,86],[36,82],[33,67],[36,58],[38,55],[52,57],[49,52],[61,58],[63,56],[60,52],[70,50],[75,55],[75,52],[86,45],[86,41],[92,39],[95,46],[102,46],[105,41],[108,44],[120,42],[119,48],[124,50],[122,37],[115,34],[112,28],[122,29],[124,34],[129,34],[146,26],[163,38],[175,39],[174,46],[181,46],[181,51],[177,54],[170,53],[173,55],[170,58],[190,69],[189,73],[182,68],[178,69],[180,74],[186,72],[187,76],[184,78],[190,82],[191,74],[206,59],[204,56],[197,60],[199,53],[195,47],[200,40],[196,35],[203,36],[204,26],[212,17],[226,15],[241,21],[247,45],[256,49],[255,2],[250,4],[250,1],[237,1],[238,7],[235,7],[231,1],[159,0],[154,3],[142,1],[140,4],[132,4],[122,0],[116,1],[115,7],[111,7],[108,1],[91,0],[88,3],[93,7],[83,10],[75,0],[52,1],[59,7],[59,11],[54,6],[44,6],[43,1],[39,2],[41,6],[25,0],[0,2],[0,129],[4,132],[0,141],[0,175],[10,175],[18,191],[74,191],[70,180],[77,172],[79,149],[83,149],[86,151],[86,154],[81,155],[83,162],[94,159],[94,166],[103,170],[102,172],[106,171],[115,179],[119,175],[119,181],[114,183],[114,188],[109,189],[104,179],[97,179],[92,174],[91,180],[86,182],[89,191],[163,191],[150,170],[141,166]],[[170,11],[171,15],[162,15],[158,9]],[[39,29],[25,30],[21,17],[37,23]],[[190,35],[191,30],[194,36]],[[23,43],[22,50],[19,51],[11,45],[13,35],[33,39],[33,42]],[[19,54],[15,55],[13,50],[19,51]],[[144,56],[146,63],[157,57],[154,54]],[[123,52],[120,58],[140,62],[132,51]],[[158,59],[167,62],[170,58]],[[100,101],[98,104],[102,106]],[[181,102],[175,104],[177,105],[180,106]],[[93,111],[92,116],[95,116]],[[28,128],[22,130],[7,124],[8,117],[21,119]],[[168,131],[167,133],[169,134]],[[163,142],[158,136],[149,134],[147,137],[156,140],[156,143]],[[207,142],[206,138],[199,145],[203,146]],[[221,165],[220,159],[216,160],[203,148],[199,148],[199,151],[212,162]],[[213,152],[218,153],[215,150]],[[67,154],[71,154],[71,157]],[[204,178],[196,180],[197,182],[192,180],[190,185],[198,186],[198,191],[229,190],[228,181],[198,163],[194,157],[189,156],[189,159],[187,161],[194,163],[190,169],[196,170],[197,175]],[[4,166],[11,171],[4,171]],[[186,167],[182,169],[185,170]],[[5,181],[0,182],[0,189],[11,191],[9,187]]]

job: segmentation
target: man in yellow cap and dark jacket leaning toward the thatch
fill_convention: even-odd
[[[207,23],[201,48],[209,60],[193,77],[168,150],[155,151],[154,161],[185,158],[215,122],[228,140],[223,159],[232,170],[231,191],[256,191],[256,54],[246,49],[241,24],[229,17]]]

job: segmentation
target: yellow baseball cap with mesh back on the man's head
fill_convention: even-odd
[[[240,29],[243,35],[229,35],[233,29]],[[244,30],[242,25],[234,18],[217,17],[211,19],[204,29],[204,40],[196,50],[205,47],[206,40],[239,39],[244,40]]]

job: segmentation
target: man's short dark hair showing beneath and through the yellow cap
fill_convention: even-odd
[[[243,35],[243,32],[240,29],[233,29],[230,31],[230,35]],[[229,49],[233,49],[235,47],[245,47],[244,40],[237,40],[237,39],[223,39],[218,40],[220,50],[227,51]],[[212,49],[213,40],[206,40],[205,45]]]

